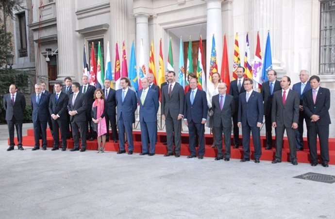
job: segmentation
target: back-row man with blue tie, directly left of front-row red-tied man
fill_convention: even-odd
[[[272,118],[271,105],[273,93],[281,90],[279,81],[276,80],[277,72],[275,70],[268,71],[268,81],[264,82],[261,87],[261,94],[264,101],[264,117],[265,117],[265,135],[266,135],[266,150],[272,149]]]

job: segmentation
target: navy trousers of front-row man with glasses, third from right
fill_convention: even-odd
[[[257,126],[249,126],[249,124],[245,126],[242,125],[243,157],[250,158],[250,132],[252,133],[252,143],[255,149],[253,156],[255,159],[259,159],[262,155],[260,128]]]

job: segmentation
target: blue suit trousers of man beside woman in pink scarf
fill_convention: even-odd
[[[120,119],[117,121],[118,127],[118,145],[120,147],[120,151],[125,151],[125,139],[124,133],[126,132],[127,141],[128,141],[128,152],[134,151],[134,142],[133,142],[133,122],[132,121],[124,121],[122,115]]]

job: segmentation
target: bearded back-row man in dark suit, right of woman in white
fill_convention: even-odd
[[[233,114],[234,148],[238,148],[238,146],[240,145],[239,129],[237,126],[238,98],[241,93],[246,92],[243,86],[244,72],[245,72],[244,67],[237,67],[236,69],[237,79],[230,83],[230,89],[229,89],[229,94],[234,97],[234,103],[235,103],[235,112]]]

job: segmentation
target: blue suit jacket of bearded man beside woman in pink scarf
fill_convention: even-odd
[[[122,102],[122,89],[118,89],[116,93],[117,100],[117,120],[122,119],[124,121],[135,122],[135,111],[137,109],[136,93],[132,89],[128,88],[127,94]]]

